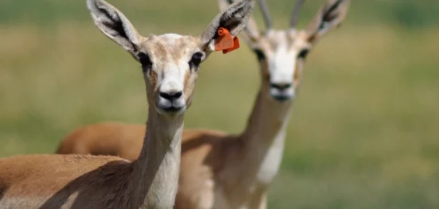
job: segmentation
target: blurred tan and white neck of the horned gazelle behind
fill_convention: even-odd
[[[279,169],[291,104],[273,100],[262,86],[240,137],[245,149],[242,164],[261,183],[271,183]]]

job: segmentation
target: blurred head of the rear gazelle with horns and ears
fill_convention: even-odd
[[[291,100],[300,84],[303,64],[308,52],[323,34],[339,26],[346,16],[350,0],[328,0],[322,6],[306,29],[295,28],[300,7],[305,2],[298,0],[293,9],[288,29],[272,29],[272,20],[265,1],[259,0],[266,30],[261,33],[256,22],[250,18],[243,35],[256,54],[261,65],[262,88],[273,99]],[[232,0],[219,0],[219,7],[225,10]]]

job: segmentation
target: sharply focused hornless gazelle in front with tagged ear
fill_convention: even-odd
[[[245,26],[253,0],[233,3],[199,37],[141,36],[104,0],[87,0],[98,29],[142,65],[148,127],[139,159],[92,155],[21,155],[0,159],[0,208],[172,208],[178,186],[183,114],[199,64],[217,31]]]

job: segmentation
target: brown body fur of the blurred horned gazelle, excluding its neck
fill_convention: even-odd
[[[57,153],[109,155],[117,151],[118,156],[130,161],[137,160],[142,145],[139,139],[143,137],[145,129],[145,125],[128,123],[87,125],[69,134],[59,146]],[[106,143],[98,144],[97,141]],[[85,150],[80,146],[88,149]],[[109,152],[102,153],[102,150]],[[240,153],[242,153],[242,141],[236,135],[217,130],[184,130],[178,192],[195,195],[179,196],[176,199],[176,206],[178,208],[197,206],[203,199],[203,192],[199,191],[206,187],[203,180],[215,178],[215,173],[226,168],[224,156],[229,155],[230,157],[227,158],[233,160],[240,158]]]

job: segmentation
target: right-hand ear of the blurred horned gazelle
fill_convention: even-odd
[[[328,0],[307,26],[308,41],[316,43],[325,33],[339,26],[348,13],[350,0]]]

